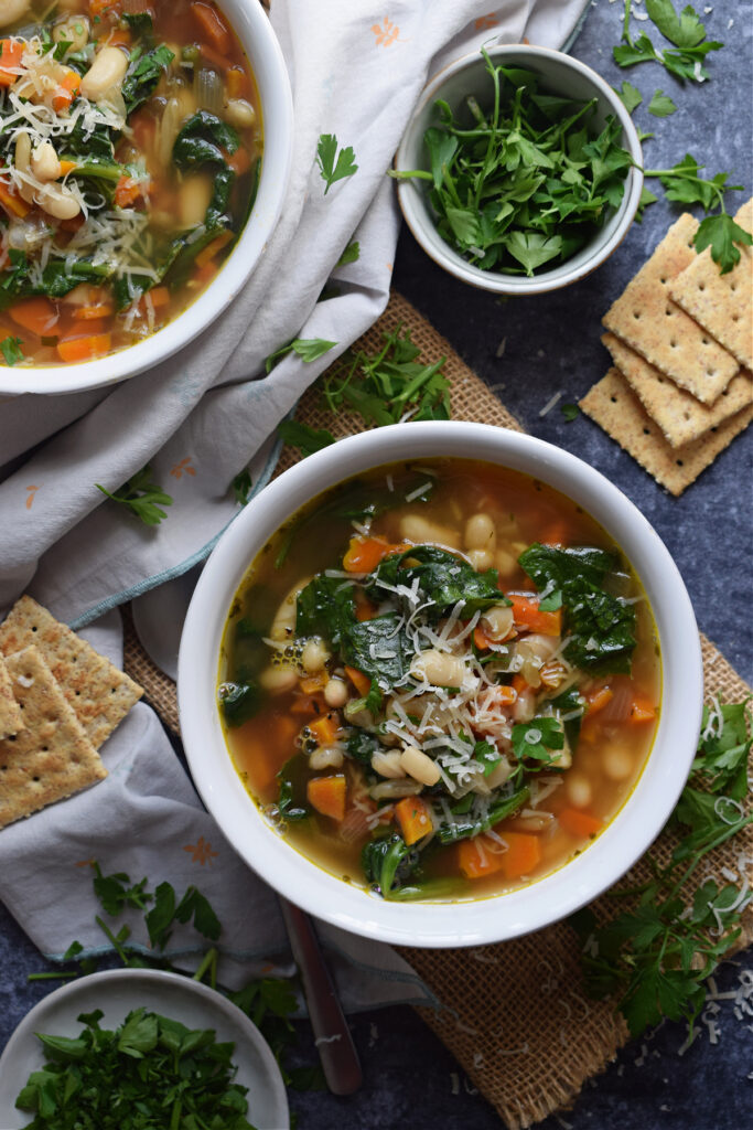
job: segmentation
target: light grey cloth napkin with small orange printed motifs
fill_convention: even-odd
[[[225,314],[159,367],[106,389],[0,405],[0,617],[27,590],[71,626],[91,624],[94,645],[120,662],[112,609],[209,554],[237,512],[234,477],[251,464],[255,489],[263,488],[277,425],[384,310],[399,229],[386,172],[429,75],[482,43],[562,47],[587,7],[273,2],[295,102],[292,174],[277,231]],[[326,133],[352,146],[358,171],[325,195],[316,150]],[[358,260],[338,267],[352,240]],[[336,297],[318,302],[329,284]],[[264,375],[264,358],[297,337],[336,346],[308,364],[291,354]],[[95,487],[113,490],[147,462],[174,496],[156,528]],[[147,877],[152,889],[167,880],[178,896],[198,886],[224,923],[224,983],[286,972],[272,892],[201,807],[150,707],[138,704],[100,754],[108,776],[96,788],[0,832],[0,897],[38,948],[58,957],[73,940],[108,948],[95,923],[89,864],[97,860],[104,873]],[[131,918],[133,939],[146,946],[141,915]],[[324,924],[321,935],[347,1008],[427,999],[388,947]],[[178,928],[168,951],[190,963],[196,947],[195,935]]]

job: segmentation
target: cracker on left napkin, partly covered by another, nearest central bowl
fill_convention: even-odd
[[[139,701],[142,688],[36,600],[21,597],[0,624],[0,653],[7,657],[29,644],[40,649],[89,741],[98,749]]]

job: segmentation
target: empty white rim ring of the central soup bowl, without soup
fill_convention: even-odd
[[[217,703],[228,612],[256,554],[304,504],[351,476],[401,460],[472,459],[522,471],[580,505],[622,549],[650,602],[662,655],[660,719],[621,810],[581,854],[505,894],[456,903],[388,902],[319,868],[281,837],[249,798],[230,758]],[[643,854],[690,772],[702,709],[702,664],[690,598],[640,511],[587,463],[541,440],[482,424],[399,424],[317,452],[242,511],[209,558],[189,609],[178,660],[181,730],[208,809],[238,854],[280,894],[334,925],[405,946],[501,941],[590,902]]]

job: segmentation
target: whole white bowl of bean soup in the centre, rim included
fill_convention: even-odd
[[[236,850],[404,945],[497,941],[615,881],[701,711],[667,550],[580,460],[459,423],[292,468],[233,523],[181,646],[182,731]]]

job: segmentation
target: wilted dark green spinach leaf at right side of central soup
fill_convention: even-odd
[[[570,642],[566,659],[589,671],[630,671],[636,646],[636,612],[606,592],[602,584],[616,572],[616,558],[603,549],[555,549],[539,542],[518,563],[548,597],[561,592],[564,633]]]

